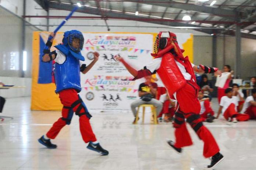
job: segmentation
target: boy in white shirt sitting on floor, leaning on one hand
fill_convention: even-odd
[[[226,96],[221,97],[220,108],[216,119],[218,119],[222,112],[227,121],[232,121],[234,123],[237,121],[247,121],[249,119],[247,114],[239,114],[237,112],[238,99],[237,96],[233,96],[232,88],[225,89],[225,94]]]

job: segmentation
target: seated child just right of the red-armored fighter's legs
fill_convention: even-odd
[[[209,98],[203,98],[203,92],[200,90],[198,92],[198,100],[201,104],[201,111],[200,111],[200,117],[203,119],[204,122],[213,122],[213,119],[215,119],[214,111],[212,110],[210,106],[210,100]]]

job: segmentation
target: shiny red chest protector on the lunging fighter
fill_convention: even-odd
[[[166,87],[169,96],[173,95],[173,93],[186,84],[186,80],[171,53],[163,55],[161,65],[156,72]]]

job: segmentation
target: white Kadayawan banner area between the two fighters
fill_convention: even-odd
[[[99,60],[87,74],[81,74],[79,93],[89,110],[130,111],[138,99],[138,87],[144,80],[132,80],[122,63],[112,57],[120,54],[136,69],[152,60],[153,34],[84,33],[85,64],[92,62],[92,52],[100,53]]]

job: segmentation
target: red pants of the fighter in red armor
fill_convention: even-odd
[[[183,88],[176,92],[176,97],[179,104],[179,111],[182,112],[184,118],[199,117],[192,123],[190,123],[191,127],[195,129],[196,125],[202,125],[202,119],[200,119],[199,116],[200,102],[197,98],[198,89],[199,87],[198,85],[196,85],[196,83],[189,81]],[[200,128],[196,131],[196,134],[204,142],[203,156],[209,158],[220,151],[213,135],[204,125],[200,126]],[[175,137],[175,147],[177,148],[193,144],[191,137],[188,133],[188,129],[186,128],[185,122],[182,123],[180,127],[175,128]]]

